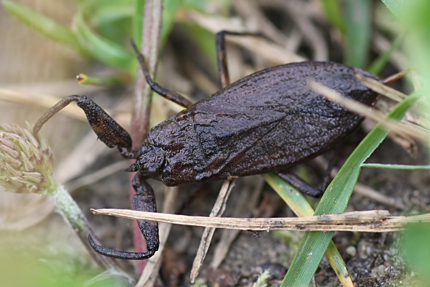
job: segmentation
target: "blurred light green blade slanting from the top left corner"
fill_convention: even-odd
[[[28,27],[61,44],[80,50],[80,45],[75,34],[68,27],[15,1],[3,0],[2,3],[6,11]]]

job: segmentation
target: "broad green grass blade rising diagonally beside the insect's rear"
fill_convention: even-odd
[[[402,119],[418,97],[417,94],[409,96],[396,105],[388,117],[397,120]],[[358,179],[360,165],[372,154],[387,134],[388,130],[378,124],[360,142],[330,183],[315,210],[315,215],[344,212]],[[307,286],[333,235],[334,232],[306,232],[281,286]]]

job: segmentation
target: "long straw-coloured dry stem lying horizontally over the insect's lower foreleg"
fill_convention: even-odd
[[[361,231],[389,232],[405,229],[408,223],[430,222],[430,213],[419,216],[390,216],[387,210],[354,211],[306,217],[227,218],[185,216],[135,210],[98,209],[95,214],[153,220],[181,225],[240,230]]]

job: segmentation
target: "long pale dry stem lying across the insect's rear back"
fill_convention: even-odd
[[[371,110],[371,108],[367,105],[364,105],[360,102],[348,99],[342,96],[340,93],[336,92],[333,89],[328,88],[320,83],[317,83],[313,80],[307,80],[307,84],[311,89],[320,93],[322,96],[325,96],[327,99],[338,103],[344,108],[347,108],[350,111],[353,111],[356,114],[362,114],[365,117],[372,118],[376,120],[378,123],[381,123],[384,127],[392,129],[394,133],[407,134],[414,138],[427,140],[430,137],[430,132],[422,127],[418,127],[411,123],[403,123],[398,122],[396,120],[390,120],[385,118],[385,114],[380,111]]]

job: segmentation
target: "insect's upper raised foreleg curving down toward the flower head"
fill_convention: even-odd
[[[99,105],[86,96],[68,96],[55,104],[42,117],[40,117],[39,120],[37,120],[37,123],[33,128],[34,136],[37,136],[37,133],[39,133],[39,130],[47,120],[71,102],[76,102],[77,105],[85,112],[86,118],[88,119],[92,130],[94,130],[98,136],[98,139],[104,142],[104,144],[109,148],[117,146],[123,157],[134,158],[132,139],[129,133],[127,133],[127,131],[124,130],[124,128],[121,127]]]

